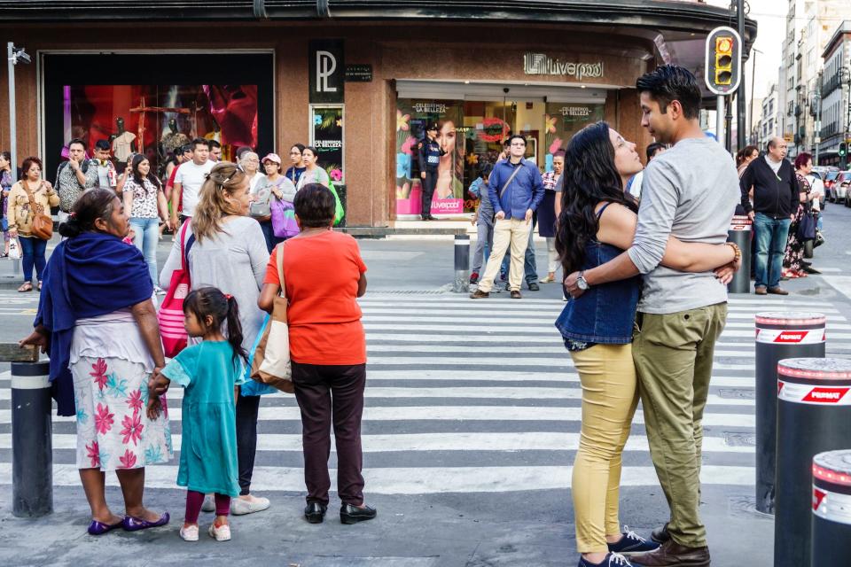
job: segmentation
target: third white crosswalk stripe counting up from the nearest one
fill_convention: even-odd
[[[269,408],[261,406],[258,419],[262,421],[301,421],[299,408],[285,406]],[[168,409],[169,419],[180,421],[180,408]],[[0,423],[9,423],[12,410],[0,409]],[[72,422],[74,416],[53,416],[54,422]],[[579,422],[582,408],[552,406],[392,406],[363,408],[364,422],[386,421],[530,421],[530,422]],[[642,412],[636,411],[633,423],[644,423]],[[707,413],[703,416],[705,426],[754,427],[753,412],[748,414]]]

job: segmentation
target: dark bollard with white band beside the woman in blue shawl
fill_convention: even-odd
[[[12,362],[12,514],[53,512],[49,361]]]

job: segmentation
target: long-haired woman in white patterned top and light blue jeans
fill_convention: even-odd
[[[124,181],[124,210],[130,217],[133,244],[144,254],[148,273],[154,282],[154,291],[162,294],[157,273],[157,244],[160,242],[160,219],[170,225],[168,204],[162,184],[151,171],[151,162],[137,153],[130,161],[130,173]],[[168,226],[171,229],[171,226]]]

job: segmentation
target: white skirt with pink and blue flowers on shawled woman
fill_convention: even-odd
[[[82,356],[71,365],[77,408],[78,469],[139,469],[174,455],[168,409],[148,419],[144,365]]]

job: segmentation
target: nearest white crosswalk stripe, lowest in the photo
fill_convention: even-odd
[[[367,490],[373,494],[428,493],[505,493],[525,490],[559,490],[570,488],[573,467],[423,467],[363,469]],[[331,471],[331,485],[337,485],[336,470]],[[12,464],[0,463],[0,484],[8,485]],[[144,470],[144,487],[177,488],[177,467],[161,465]],[[700,482],[704,485],[753,485],[752,467],[703,465]],[[118,485],[117,478],[106,475],[106,484]],[[54,486],[80,485],[80,474],[74,465],[53,465]],[[621,486],[657,486],[652,467],[624,467]],[[289,467],[254,467],[251,487],[258,493],[304,492],[304,470]]]

